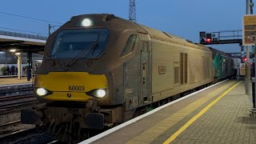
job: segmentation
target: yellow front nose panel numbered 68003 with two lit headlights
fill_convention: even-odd
[[[106,76],[86,72],[37,74],[34,87],[38,97],[50,101],[86,102],[107,95]]]

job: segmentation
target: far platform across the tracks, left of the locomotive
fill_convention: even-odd
[[[9,86],[9,85],[17,85],[17,84],[31,84],[32,79],[27,81],[26,77],[22,77],[22,79],[18,78],[0,78],[0,86]]]

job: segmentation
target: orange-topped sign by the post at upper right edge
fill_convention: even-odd
[[[256,14],[247,14],[242,19],[242,45],[254,46],[256,34]]]

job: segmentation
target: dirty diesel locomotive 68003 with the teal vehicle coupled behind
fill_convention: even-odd
[[[115,126],[230,77],[230,62],[218,50],[113,14],[74,16],[47,39],[34,79],[46,104],[22,110],[22,122],[70,134]]]

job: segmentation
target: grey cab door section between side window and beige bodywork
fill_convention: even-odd
[[[126,110],[145,106],[151,101],[151,44],[147,34],[138,34],[135,56],[123,64]]]

